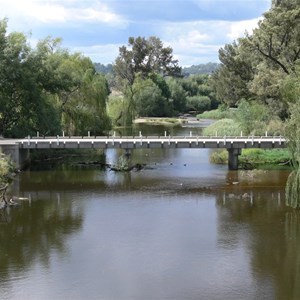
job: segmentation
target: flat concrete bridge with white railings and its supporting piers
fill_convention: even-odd
[[[24,139],[0,139],[2,152],[11,155],[17,166],[29,159],[30,149],[226,149],[228,168],[238,169],[238,156],[242,149],[285,148],[281,136],[83,136],[83,137],[27,137]]]

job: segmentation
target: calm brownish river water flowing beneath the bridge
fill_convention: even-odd
[[[228,171],[210,151],[136,150],[139,172],[22,172],[12,192],[27,199],[0,211],[0,299],[300,299],[289,172]]]

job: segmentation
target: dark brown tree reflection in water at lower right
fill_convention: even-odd
[[[243,195],[251,195],[244,197]],[[218,195],[218,243],[247,248],[258,299],[300,299],[300,211],[287,208],[282,189],[243,189]]]

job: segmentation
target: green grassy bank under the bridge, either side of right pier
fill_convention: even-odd
[[[269,168],[289,166],[291,154],[287,149],[243,149],[239,157],[240,168]],[[210,161],[216,164],[227,164],[227,150],[213,152]]]

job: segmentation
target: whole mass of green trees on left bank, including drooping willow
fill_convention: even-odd
[[[90,59],[70,54],[60,39],[40,40],[32,48],[23,33],[7,33],[0,21],[0,135],[20,137],[110,127],[109,89]]]

